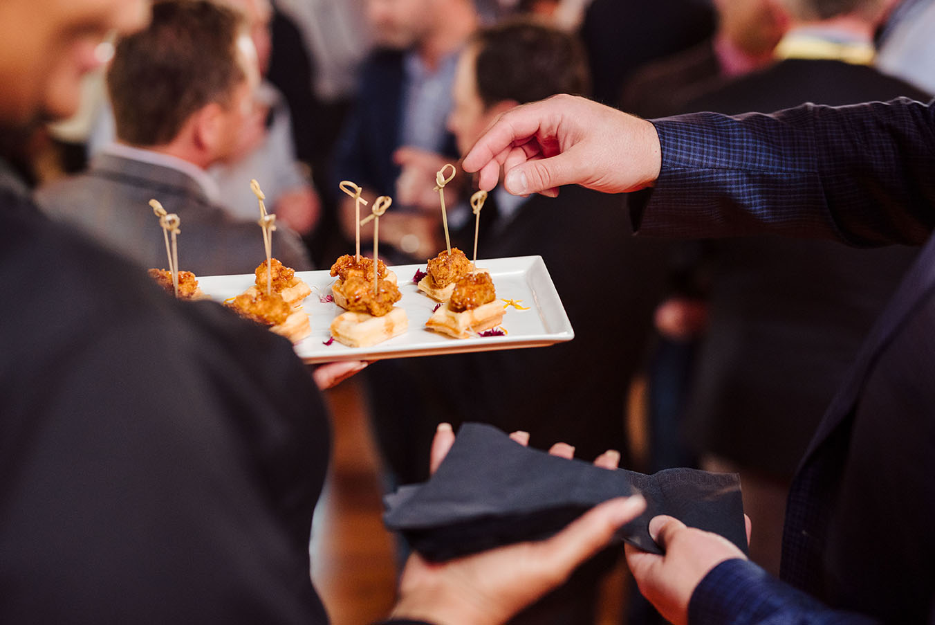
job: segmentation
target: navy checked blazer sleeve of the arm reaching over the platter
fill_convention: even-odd
[[[935,227],[932,103],[807,104],[653,123],[662,169],[654,189],[631,202],[641,233],[772,232],[872,246],[921,243]]]

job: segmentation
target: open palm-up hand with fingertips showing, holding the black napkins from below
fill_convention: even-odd
[[[525,432],[513,432],[517,443]],[[434,472],[454,443],[442,424],[432,445]],[[573,447],[556,443],[550,453],[570,458]],[[620,455],[609,451],[595,463],[615,469]],[[430,563],[410,556],[400,582],[396,618],[420,618],[437,625],[493,625],[510,619],[529,603],[564,582],[579,564],[610,542],[613,532],[646,507],[640,495],[605,501],[552,538],[506,545],[479,554]]]

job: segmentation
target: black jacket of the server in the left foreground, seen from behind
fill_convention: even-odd
[[[327,623],[328,421],[292,345],[0,211],[0,621]]]

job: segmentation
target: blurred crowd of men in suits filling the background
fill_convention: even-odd
[[[212,36],[222,26],[200,23],[102,43],[109,61],[86,77],[79,113],[19,151],[44,211],[151,266],[164,251],[146,201],[167,198],[188,228],[183,267],[205,275],[252,271],[237,252],[257,239],[251,179],[295,269],[353,249],[341,181],[394,198],[381,257],[424,265],[445,246],[436,172],[499,113],[553,94],[657,118],[935,92],[932,0],[217,1],[249,45],[231,51]],[[476,188],[460,168],[444,188],[465,250]],[[479,256],[543,256],[576,338],[368,367],[385,486],[427,477],[441,421],[525,430],[531,446],[564,441],[582,458],[618,449],[642,472],[739,472],[751,558],[778,574],[798,460],[917,250],[652,240],[632,235],[626,202],[578,187],[491,194]],[[616,558],[601,554],[514,622],[593,623]],[[630,596],[628,622],[661,622]]]

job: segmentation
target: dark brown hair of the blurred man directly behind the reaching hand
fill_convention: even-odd
[[[577,37],[528,19],[479,31],[477,93],[485,107],[515,100],[534,102],[554,94],[586,95],[590,88]]]

